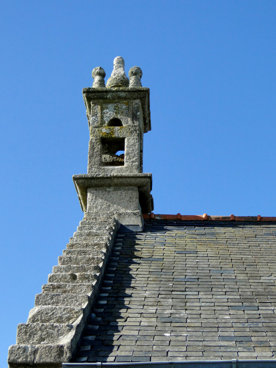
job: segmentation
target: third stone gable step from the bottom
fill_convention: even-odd
[[[83,309],[77,307],[57,307],[54,305],[40,305],[29,312],[27,323],[74,323],[83,315]]]

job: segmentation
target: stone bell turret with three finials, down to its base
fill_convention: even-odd
[[[152,174],[143,173],[143,135],[151,130],[149,89],[142,71],[125,75],[124,59],[114,59],[105,85],[105,71],[94,68],[92,88],[82,93],[90,132],[88,174],[73,180],[84,212],[114,215],[123,225],[143,226],[142,213],[153,210]]]

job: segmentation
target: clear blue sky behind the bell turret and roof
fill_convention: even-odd
[[[2,1],[1,361],[82,219],[81,90],[143,71],[155,213],[276,216],[276,1]]]

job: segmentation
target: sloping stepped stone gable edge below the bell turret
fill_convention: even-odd
[[[77,349],[91,313],[119,223],[85,213],[53,267],[42,293],[36,295],[27,323],[17,328],[9,348],[10,368],[59,368]]]

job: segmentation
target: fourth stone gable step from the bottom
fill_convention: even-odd
[[[40,293],[35,296],[35,306],[84,307],[89,301],[86,294]]]

